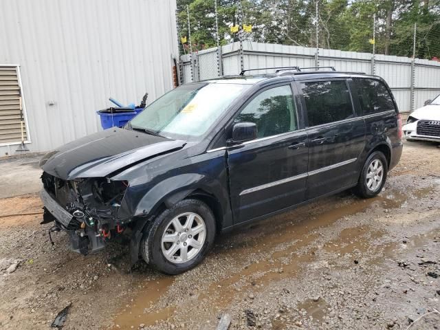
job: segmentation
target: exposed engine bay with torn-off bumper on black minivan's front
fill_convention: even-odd
[[[45,172],[41,179],[42,194],[49,200],[45,203],[43,223],[55,221],[50,233],[67,231],[75,252],[84,255],[97,252],[104,248],[112,235],[124,231],[125,225],[118,219],[118,210],[128,181],[105,177],[66,181]],[[57,212],[62,212],[61,216],[56,217]]]

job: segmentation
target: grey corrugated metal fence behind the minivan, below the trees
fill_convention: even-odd
[[[313,67],[315,65],[315,48],[274,45],[268,43],[243,43],[245,69],[257,67]],[[203,52],[208,52],[204,50]],[[222,47],[223,74],[239,74],[240,54],[239,43],[231,43]],[[204,54],[204,53],[203,53]],[[201,56],[203,56],[201,53]],[[214,78],[217,74],[210,70],[206,75],[203,68],[207,67],[206,61],[203,67],[197,67],[198,54],[193,55],[196,63],[195,71],[200,72],[204,78]],[[331,66],[339,71],[372,73],[372,54],[358,52],[344,52],[340,50],[319,50],[319,64],[321,67]],[[181,57],[184,63],[184,81],[191,81],[188,72],[190,70],[189,55]],[[375,74],[386,80],[393,90],[400,111],[411,109],[411,58],[399,56],[375,56]],[[217,65],[216,58],[212,59],[211,66]],[[214,73],[213,73],[214,72]],[[263,73],[256,71],[252,73]],[[274,72],[274,70],[271,70]],[[197,78],[197,76],[195,76]],[[415,60],[414,81],[415,109],[423,106],[423,102],[440,94],[440,63],[427,60]]]

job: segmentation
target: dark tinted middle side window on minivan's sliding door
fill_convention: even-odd
[[[353,118],[353,105],[345,80],[301,84],[309,126]]]

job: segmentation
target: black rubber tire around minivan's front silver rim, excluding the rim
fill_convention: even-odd
[[[170,221],[186,212],[195,213],[203,220],[206,227],[204,243],[192,259],[184,263],[172,263],[162,252],[162,235],[169,228]],[[214,243],[215,232],[214,214],[206,203],[198,199],[184,199],[175,204],[173,208],[164,210],[153,219],[150,225],[146,226],[140,244],[140,252],[144,261],[155,270],[168,275],[181,274],[201,263]],[[188,248],[192,247],[188,245]]]

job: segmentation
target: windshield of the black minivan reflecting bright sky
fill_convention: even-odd
[[[249,87],[233,83],[182,85],[148,105],[128,126],[166,137],[200,137]]]

